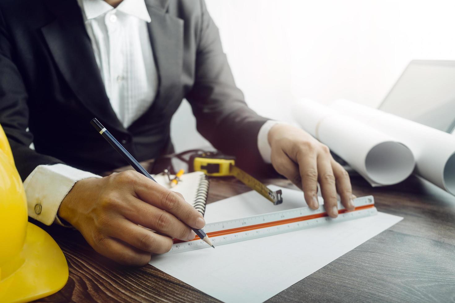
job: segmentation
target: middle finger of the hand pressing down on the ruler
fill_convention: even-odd
[[[321,185],[321,194],[324,198],[324,208],[330,217],[338,217],[337,190],[335,187],[335,176],[330,163],[329,154],[318,156],[318,176]]]

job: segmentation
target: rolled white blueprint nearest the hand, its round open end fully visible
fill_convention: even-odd
[[[299,100],[293,115],[304,130],[329,146],[372,186],[399,183],[414,170],[414,156],[407,146],[328,106]]]

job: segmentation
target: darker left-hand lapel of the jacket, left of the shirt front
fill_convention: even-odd
[[[77,1],[46,3],[56,19],[41,30],[66,82],[96,118],[125,132],[106,95]]]

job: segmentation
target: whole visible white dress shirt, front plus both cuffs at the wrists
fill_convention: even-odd
[[[144,0],[123,0],[116,8],[104,0],[77,1],[106,94],[127,128],[147,111],[157,94],[147,7]],[[268,131],[276,123],[267,121],[259,130],[258,149],[266,163],[271,152]],[[37,166],[24,181],[29,216],[47,225],[61,224],[56,217],[61,201],[77,181],[86,178],[101,176],[65,164]]]

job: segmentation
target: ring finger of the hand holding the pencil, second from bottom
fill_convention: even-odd
[[[173,243],[172,238],[154,233],[127,219],[117,220],[116,228],[110,229],[108,235],[150,253],[166,253]]]

